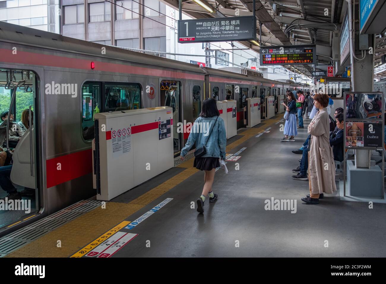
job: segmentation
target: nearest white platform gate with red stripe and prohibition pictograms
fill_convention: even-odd
[[[171,110],[152,107],[95,114],[93,179],[98,200],[111,200],[173,167]],[[102,131],[103,124],[107,131]]]

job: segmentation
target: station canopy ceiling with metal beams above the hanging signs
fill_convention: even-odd
[[[178,0],[162,0],[178,10]],[[182,11],[190,17],[216,18],[252,15],[253,0],[200,0],[214,13],[193,0],[182,0]],[[347,2],[345,0],[256,0],[257,41],[261,46],[316,44],[318,65],[316,70],[327,70],[332,62],[333,31],[340,30]],[[237,10],[238,9],[238,10]],[[386,37],[376,40],[376,62],[386,53]],[[259,52],[259,46],[241,41],[245,47]],[[291,66],[284,66],[291,70]],[[311,77],[312,65],[297,65],[296,69]],[[293,70],[293,66],[292,66]]]

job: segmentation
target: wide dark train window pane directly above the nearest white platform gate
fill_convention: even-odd
[[[141,86],[130,83],[105,83],[105,111],[125,111],[141,108]]]

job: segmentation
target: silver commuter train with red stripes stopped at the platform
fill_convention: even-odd
[[[207,97],[234,99],[242,128],[246,97],[261,97],[264,113],[265,96],[293,87],[310,89],[0,22],[0,94],[11,102],[1,107],[16,120],[23,109],[33,112],[14,150],[10,179],[18,189],[35,189],[30,213],[1,215],[0,236],[95,196],[95,113],[168,105],[177,124],[195,121]],[[189,133],[174,135],[177,156]]]

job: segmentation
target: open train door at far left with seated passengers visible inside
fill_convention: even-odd
[[[39,83],[32,71],[0,69],[0,228],[20,223],[40,209]]]

